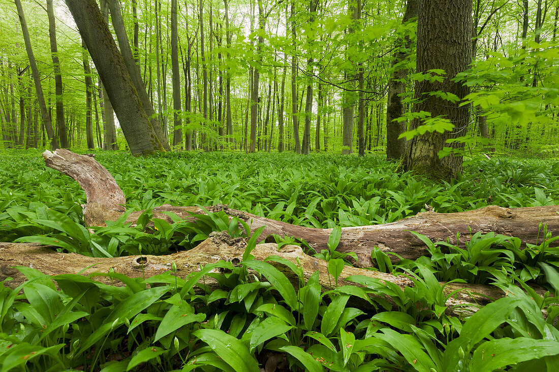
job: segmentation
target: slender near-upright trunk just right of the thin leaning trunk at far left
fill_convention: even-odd
[[[68,137],[66,135],[66,125],[64,123],[64,103],[62,99],[63,85],[62,74],[60,72],[60,61],[58,59],[58,47],[56,46],[56,24],[53,10],[53,0],[46,0],[46,13],[49,17],[49,39],[50,53],[53,59],[54,87],[56,94],[56,125],[58,126],[58,138],[60,147],[68,148]]]

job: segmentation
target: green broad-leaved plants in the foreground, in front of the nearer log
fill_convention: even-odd
[[[2,370],[257,372],[270,361],[278,370],[312,372],[559,366],[556,298],[500,283],[508,297],[460,319],[446,314],[450,296],[420,263],[418,274],[409,273],[414,286],[404,290],[355,275],[347,280],[361,287],[323,292],[318,273],[305,280],[302,268],[280,257],[253,260],[257,236],[239,265],[219,261],[187,279],[174,268],[148,279],[98,274],[125,283],[113,287],[94,274],[18,268],[28,281],[0,292]],[[297,288],[270,261],[288,266]],[[328,271],[337,282],[339,273]],[[220,289],[206,287],[204,276]],[[375,310],[363,312],[351,298]]]

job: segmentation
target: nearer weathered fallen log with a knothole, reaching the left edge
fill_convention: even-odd
[[[175,275],[175,273],[171,271],[173,262],[177,266],[176,275],[184,279],[188,274],[200,271],[201,266],[213,264],[219,260],[224,260],[233,264],[240,263],[245,246],[245,239],[231,238],[225,232],[222,232],[215,233],[212,237],[203,241],[192,250],[176,252],[171,255],[94,258],[75,253],[60,253],[57,252],[54,247],[50,246],[0,242],[0,279],[3,280],[10,276],[12,280],[6,282],[4,285],[10,288],[17,288],[25,282],[26,278],[16,267],[26,266],[37,269],[48,275],[82,273],[83,275],[92,275],[94,279],[102,283],[122,285],[118,280],[112,281],[105,276],[96,276],[95,273],[108,273],[111,270],[115,273],[125,274],[131,278],[149,278],[150,276],[169,271],[169,274]],[[261,261],[269,256],[277,255],[292,263],[301,265],[301,268],[304,270],[305,281],[309,279],[311,274],[319,271],[320,284],[323,290],[331,290],[335,287],[334,279],[329,277],[326,261],[306,255],[298,246],[283,246],[282,249],[278,251],[277,244],[258,244],[252,251],[252,255],[256,260]],[[290,269],[276,261],[269,261],[269,263],[286,274],[294,288],[299,288],[299,278],[297,278]],[[345,278],[348,278],[350,275],[363,275],[368,278],[380,279],[394,283],[402,289],[413,286],[413,282],[405,276],[395,276],[351,266],[345,266],[343,269],[338,280],[338,286],[356,285],[354,282],[345,280]],[[219,283],[209,276],[204,278],[203,284],[210,289],[219,288]],[[480,306],[490,302],[491,299],[498,299],[504,295],[500,289],[487,285],[462,283],[440,284],[446,284],[446,287],[444,287],[444,293],[446,295],[455,290],[458,291],[456,294],[452,295],[451,298],[447,299],[446,305],[448,306],[448,314],[459,317],[467,316],[475,312]],[[201,291],[199,288],[198,290]],[[386,299],[394,305],[390,297],[386,297]],[[373,309],[371,304],[362,299],[352,297],[352,301],[349,303],[351,306],[358,307],[364,312],[371,312]]]

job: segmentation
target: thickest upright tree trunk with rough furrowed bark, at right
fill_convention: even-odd
[[[472,2],[471,0],[421,0],[418,15],[417,71],[445,71],[443,82],[424,80],[415,84],[415,98],[420,100],[414,111],[427,111],[432,117],[443,117],[454,126],[444,133],[427,132],[417,135],[406,145],[402,169],[415,171],[432,179],[450,179],[462,171],[462,156],[449,155],[439,159],[443,147],[461,149],[463,144],[447,144],[448,139],[465,136],[470,121],[470,105],[451,102],[430,92],[452,93],[462,99],[470,88],[453,79],[472,63]],[[421,125],[415,118],[410,129]]]

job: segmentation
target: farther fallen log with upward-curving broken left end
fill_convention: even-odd
[[[115,179],[89,156],[77,155],[71,151],[59,149],[55,154],[43,153],[45,163],[50,168],[62,171],[77,180],[86,191],[87,204],[84,218],[88,226],[103,226],[105,221],[114,221],[124,212],[119,204],[125,203],[125,197]],[[255,230],[266,226],[263,237],[273,241],[272,235],[294,236],[304,239],[316,251],[326,249],[331,229],[310,228],[291,225],[290,223],[258,217],[254,214],[217,205],[206,207],[207,211],[224,211],[231,218],[240,219],[252,225]],[[154,217],[171,222],[164,212],[173,212],[184,220],[195,220],[191,213],[205,213],[199,207],[174,207],[169,204],[153,209]],[[131,213],[127,222],[134,222],[141,212]],[[414,217],[392,223],[375,226],[343,227],[342,238],[338,246],[340,252],[355,252],[358,256],[356,266],[372,266],[371,251],[377,246],[386,253],[395,253],[404,259],[415,260],[425,252],[425,244],[410,231],[419,232],[436,241],[449,240],[458,246],[464,246],[471,234],[478,231],[495,232],[522,239],[523,244],[537,244],[542,240],[540,224],[546,224],[548,231],[559,231],[559,206],[504,208],[488,206],[474,211],[458,213],[423,212]],[[456,239],[456,233],[460,238]],[[394,261],[399,259],[394,257]]]

